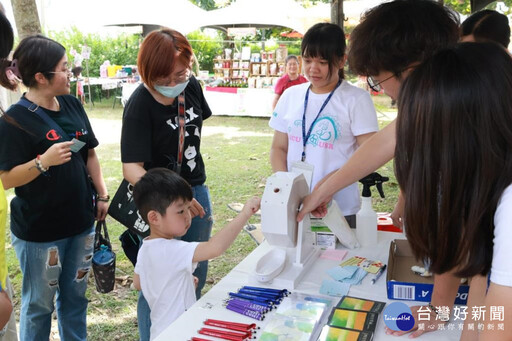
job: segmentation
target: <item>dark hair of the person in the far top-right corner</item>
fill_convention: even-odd
[[[486,9],[473,13],[461,25],[461,35],[472,34],[475,41],[494,41],[508,48],[510,26],[506,15]]]

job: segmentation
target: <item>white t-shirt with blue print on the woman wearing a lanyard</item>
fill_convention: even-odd
[[[304,99],[310,84],[304,83],[287,89],[269,122],[271,128],[288,134],[288,170],[294,162],[301,160]],[[315,94],[309,91],[306,134],[328,96],[329,93]],[[377,114],[370,95],[344,80],[316,120],[306,145],[306,162],[314,166],[311,188],[347,162],[357,149],[356,136],[378,130]],[[337,192],[333,198],[344,215],[359,211],[357,183]]]

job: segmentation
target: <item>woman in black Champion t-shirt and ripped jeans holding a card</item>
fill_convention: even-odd
[[[16,194],[11,238],[23,273],[20,338],[48,340],[58,291],[61,338],[86,340],[94,220],[105,219],[108,209],[94,151],[98,141],[82,105],[69,95],[61,44],[40,35],[25,38],[0,72],[28,88],[0,119],[0,179]],[[89,176],[99,194],[96,215]]]

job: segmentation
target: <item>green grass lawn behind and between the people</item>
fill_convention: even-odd
[[[376,102],[379,110],[389,110],[389,100],[386,98],[379,96]],[[112,109],[112,98],[95,103],[93,109],[86,105],[86,111],[89,117],[94,119],[120,121],[122,116],[120,106],[116,104],[116,108]],[[382,127],[387,122],[380,124]],[[214,116],[205,121],[204,126],[201,152],[206,164],[207,185],[212,197],[215,233],[235,216],[227,204],[244,203],[249,197],[263,193],[266,178],[271,175],[269,149],[273,131],[268,127],[268,119],[263,118]],[[97,153],[112,196],[122,178],[119,145],[100,145]],[[385,165],[379,172],[389,176],[390,181],[384,185],[385,199],[378,198],[374,191],[374,207],[377,211],[390,212],[398,192],[392,163]],[[7,194],[12,197],[13,191],[10,190]],[[251,222],[258,222],[256,218],[251,219]],[[130,289],[133,266],[125,257],[118,240],[124,227],[110,218],[107,218],[107,226],[114,251],[117,253],[118,283],[112,293],[99,294],[95,289],[93,277],[89,277],[88,339],[138,340],[137,292]],[[10,241],[10,233],[7,238]],[[205,291],[224,277],[255,247],[252,239],[246,233],[241,233],[223,256],[210,261]],[[7,261],[17,293],[14,303],[19,315],[21,272],[14,249],[10,245],[7,249]]]

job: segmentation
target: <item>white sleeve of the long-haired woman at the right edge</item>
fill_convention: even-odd
[[[512,185],[503,191],[494,213],[491,282],[512,287]]]

